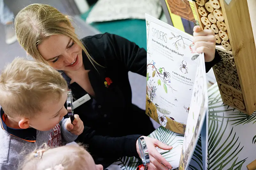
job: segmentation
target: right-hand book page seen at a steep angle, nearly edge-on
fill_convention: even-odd
[[[188,113],[179,170],[186,170],[188,168],[190,159],[192,158],[193,152],[196,148],[197,140],[200,136],[208,108],[204,54],[200,54],[197,60],[199,60],[199,64],[196,70],[196,79]],[[205,161],[203,160],[203,162]]]

